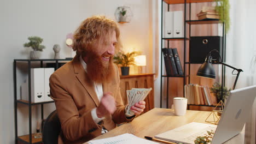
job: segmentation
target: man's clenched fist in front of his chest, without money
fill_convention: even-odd
[[[115,99],[112,97],[111,92],[106,92],[101,98],[101,103],[96,109],[97,117],[102,118],[107,114],[113,114],[117,110],[115,106]]]

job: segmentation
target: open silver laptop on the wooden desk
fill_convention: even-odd
[[[194,143],[197,136],[214,131],[212,143],[224,143],[239,134],[249,118],[256,97],[256,85],[232,90],[224,107],[219,124],[189,123],[165,133],[156,135],[156,139],[176,143]]]

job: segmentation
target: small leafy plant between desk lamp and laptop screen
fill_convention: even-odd
[[[210,90],[211,93],[215,95],[217,102],[219,103],[220,100],[224,101],[224,99],[229,95],[231,89],[226,87],[223,87],[222,89],[222,85],[220,85],[218,82],[215,82]]]

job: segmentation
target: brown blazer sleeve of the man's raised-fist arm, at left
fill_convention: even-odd
[[[96,124],[92,119],[91,110],[79,116],[67,87],[55,73],[50,77],[50,95],[55,101],[62,133],[67,140],[75,141],[97,129],[102,129],[102,125]]]

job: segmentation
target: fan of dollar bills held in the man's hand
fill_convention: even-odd
[[[134,112],[132,112],[131,106],[135,103],[138,103],[141,100],[144,100],[148,93],[152,90],[152,88],[132,88],[131,90],[127,90],[127,99],[128,99],[128,106],[126,114],[129,116],[133,116]]]

